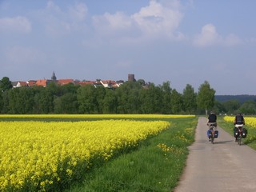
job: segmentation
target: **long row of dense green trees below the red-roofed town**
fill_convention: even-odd
[[[182,94],[170,82],[155,86],[144,81],[124,82],[109,89],[104,86],[48,86],[12,88],[9,78],[0,80],[1,114],[204,114],[209,110],[230,113],[247,106],[237,102],[217,102],[215,90],[205,81],[195,92],[187,84]],[[248,103],[250,105],[251,103]],[[254,105],[256,109],[256,105]],[[254,110],[256,111],[256,110]],[[252,111],[251,111],[252,112]]]

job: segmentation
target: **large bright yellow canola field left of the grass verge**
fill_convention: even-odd
[[[170,126],[165,121],[0,122],[0,191],[56,191]]]

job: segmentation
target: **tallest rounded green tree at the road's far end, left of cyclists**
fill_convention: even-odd
[[[206,115],[208,114],[208,110],[211,110],[214,107],[214,95],[215,90],[213,88],[210,88],[210,84],[207,81],[202,83],[202,85],[198,89],[198,107],[206,110]]]

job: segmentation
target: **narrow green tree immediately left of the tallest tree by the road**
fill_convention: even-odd
[[[186,84],[182,94],[183,110],[188,114],[195,114],[197,109],[197,94],[190,84]]]

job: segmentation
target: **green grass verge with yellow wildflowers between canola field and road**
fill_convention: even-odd
[[[166,120],[166,119],[165,119]],[[194,142],[198,118],[173,118],[172,125],[138,149],[106,162],[66,192],[172,191],[177,186]]]

